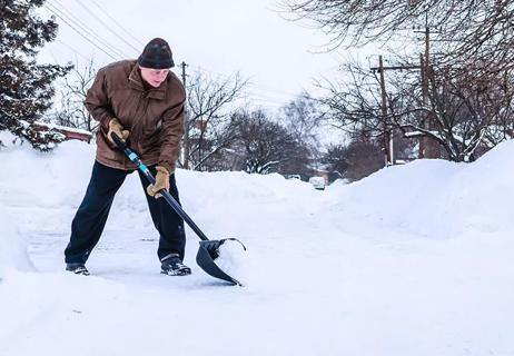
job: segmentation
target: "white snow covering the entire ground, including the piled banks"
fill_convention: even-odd
[[[0,149],[0,356],[514,355],[514,141],[473,164],[418,160],[324,191],[178,170],[204,233],[247,247],[227,244],[236,259],[224,266],[244,287],[196,265],[190,229],[192,275],[159,274],[137,175],[91,276],[63,271],[93,159],[80,141]]]

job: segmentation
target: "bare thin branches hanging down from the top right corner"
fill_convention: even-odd
[[[510,0],[283,0],[295,19],[314,21],[332,38],[332,48],[387,42],[421,26],[436,30],[431,43],[441,62],[488,63],[482,71],[514,67],[514,2]],[[425,58],[428,61],[428,58]]]

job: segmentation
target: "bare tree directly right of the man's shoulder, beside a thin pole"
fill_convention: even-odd
[[[234,140],[236,125],[231,111],[246,86],[239,73],[214,78],[197,71],[189,80],[182,167],[204,170],[219,164],[215,157]]]

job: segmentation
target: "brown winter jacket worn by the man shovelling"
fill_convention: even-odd
[[[97,160],[112,168],[136,169],[123,152],[107,141],[109,121],[118,118],[123,129],[130,131],[130,147],[139,152],[145,165],[158,164],[174,172],[184,135],[184,86],[170,71],[158,88],[145,88],[135,60],[98,71],[85,101],[92,118],[100,121]]]

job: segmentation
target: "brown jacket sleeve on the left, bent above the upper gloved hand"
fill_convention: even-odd
[[[107,135],[109,121],[115,117],[109,105],[106,85],[106,70],[100,69],[95,81],[89,88],[85,100],[86,108],[91,117],[100,122],[100,128]]]

